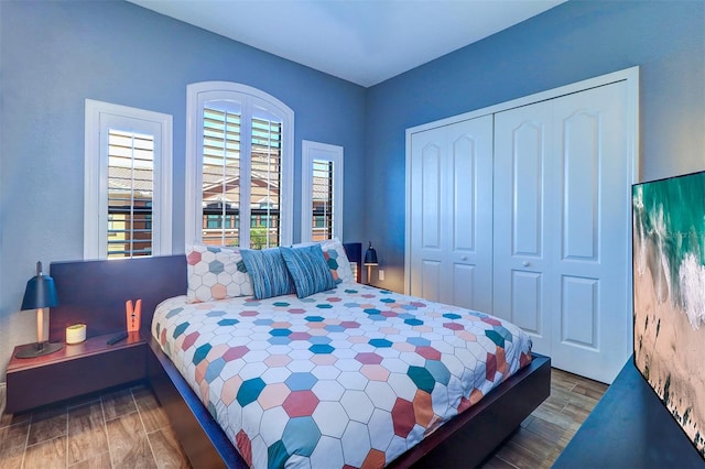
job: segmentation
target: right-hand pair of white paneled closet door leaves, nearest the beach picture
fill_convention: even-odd
[[[495,119],[494,314],[605,382],[631,346],[626,110],[618,81]]]

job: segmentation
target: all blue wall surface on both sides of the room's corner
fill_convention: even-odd
[[[344,238],[371,239],[380,285],[402,291],[406,128],[634,65],[641,178],[705,168],[702,1],[568,1],[366,90],[127,2],[0,0],[0,381],[12,348],[35,339],[34,315],[18,312],[34,263],[83,257],[86,98],[173,116],[175,247],[186,85],[281,99],[296,181],[301,140],[345,148]]]

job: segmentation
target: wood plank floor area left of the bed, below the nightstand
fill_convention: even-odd
[[[0,416],[2,469],[188,467],[166,414],[144,385]]]

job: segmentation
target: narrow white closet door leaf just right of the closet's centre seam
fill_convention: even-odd
[[[495,309],[551,356],[551,270],[555,258],[553,103],[495,117]]]

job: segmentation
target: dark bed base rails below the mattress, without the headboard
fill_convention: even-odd
[[[148,373],[150,384],[194,467],[248,467],[154,339],[150,340]],[[551,360],[534,355],[530,366],[397,458],[389,467],[477,467],[519,428],[519,424],[550,393]]]

